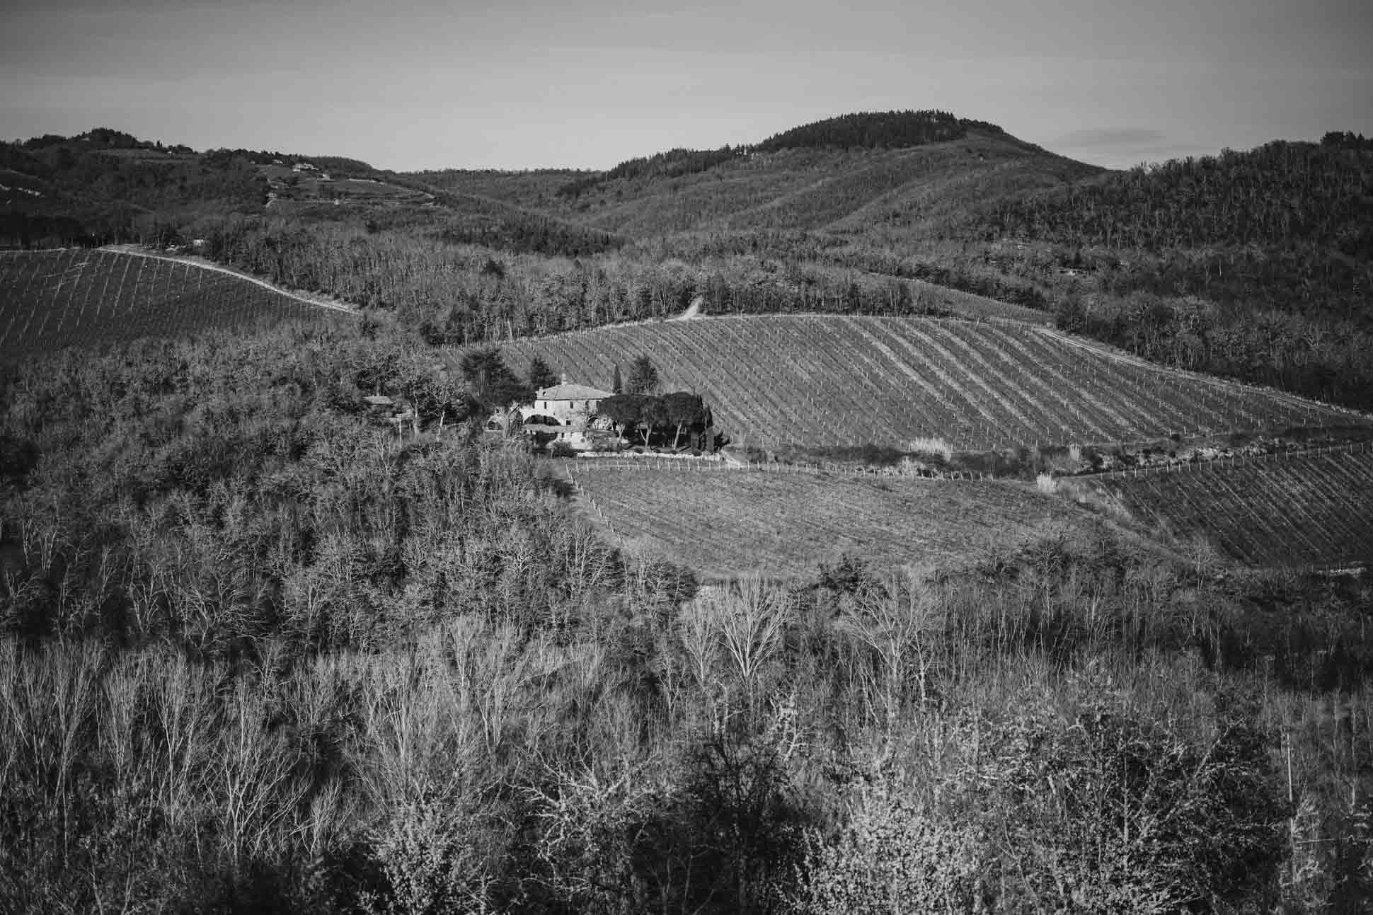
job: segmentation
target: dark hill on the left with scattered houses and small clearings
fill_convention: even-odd
[[[586,254],[618,245],[551,213],[443,192],[345,157],[199,152],[103,128],[0,143],[0,247],[166,246],[262,224],[350,220],[516,251]],[[232,246],[211,254],[244,267]]]

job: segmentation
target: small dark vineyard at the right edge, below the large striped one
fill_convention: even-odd
[[[1241,562],[1302,567],[1373,559],[1366,444],[1089,481],[1137,521],[1175,537],[1203,536]]]

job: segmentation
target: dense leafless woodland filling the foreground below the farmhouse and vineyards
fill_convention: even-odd
[[[0,908],[1373,893],[1366,583],[1100,526],[703,587],[465,403],[376,326],[5,370]]]

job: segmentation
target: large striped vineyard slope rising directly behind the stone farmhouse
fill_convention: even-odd
[[[693,390],[733,441],[954,449],[1109,444],[1366,419],[1267,389],[1149,365],[1054,331],[925,317],[748,316],[659,321],[507,343],[610,387],[649,356],[662,390]]]

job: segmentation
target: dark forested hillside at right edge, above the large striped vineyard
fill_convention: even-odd
[[[1373,144],[1354,133],[989,201],[1060,323],[1148,359],[1373,409]],[[1005,243],[1001,249],[1008,247]]]

